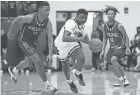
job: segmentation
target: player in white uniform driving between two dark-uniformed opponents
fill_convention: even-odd
[[[85,56],[79,42],[88,43],[89,41],[87,35],[83,36],[84,23],[87,21],[87,16],[88,12],[85,9],[79,9],[76,17],[66,21],[55,39],[55,46],[59,51],[58,58],[62,62],[65,77],[70,89],[75,93],[78,93],[78,89],[70,78],[69,57],[73,61],[76,60],[76,66],[73,69],[74,77],[78,79],[80,85],[85,86],[81,72],[85,64]]]

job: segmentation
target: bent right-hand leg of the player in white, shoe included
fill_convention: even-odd
[[[85,56],[81,48],[75,49],[71,56],[77,60],[75,66],[77,69],[73,70],[73,74],[78,79],[80,85],[85,86],[85,81],[83,79],[82,70],[85,64]]]

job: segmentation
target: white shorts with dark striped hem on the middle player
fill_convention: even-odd
[[[58,58],[60,61],[66,61],[69,59],[73,51],[81,48],[79,43],[71,42],[71,43],[55,43],[55,46],[58,50]]]

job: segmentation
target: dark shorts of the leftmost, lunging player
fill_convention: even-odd
[[[25,56],[31,56],[36,53],[35,47],[28,44],[25,41],[18,41],[18,44],[22,51],[25,53]]]

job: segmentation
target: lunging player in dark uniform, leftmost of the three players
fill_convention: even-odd
[[[38,12],[32,15],[19,16],[13,21],[8,37],[9,39],[17,39],[20,48],[26,54],[25,59],[21,61],[16,67],[9,67],[8,71],[11,74],[13,82],[17,82],[18,72],[24,68],[30,67],[28,64],[33,61],[35,68],[46,87],[50,90],[51,94],[54,94],[57,89],[53,87],[47,80],[45,70],[42,65],[42,60],[39,54],[36,52],[38,36],[42,35],[42,38],[46,39],[48,35],[49,45],[49,58],[52,56],[52,25],[49,21],[48,15],[50,13],[50,5],[47,1],[38,1]],[[21,25],[22,30],[19,35],[16,33],[16,26]],[[45,44],[45,43],[44,43]]]

